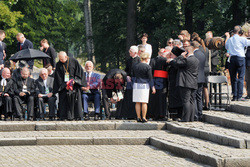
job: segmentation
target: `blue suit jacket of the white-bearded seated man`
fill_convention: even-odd
[[[84,76],[86,78],[86,83],[87,83],[87,72],[84,72]],[[98,89],[100,87],[100,84],[101,84],[101,75],[92,72],[92,74],[90,76],[90,82],[89,82],[90,92],[91,93],[99,92]],[[83,93],[85,93],[85,92],[83,92]]]

